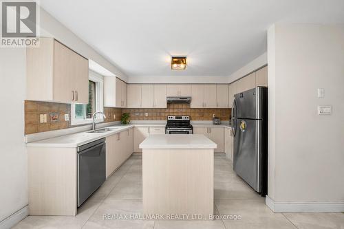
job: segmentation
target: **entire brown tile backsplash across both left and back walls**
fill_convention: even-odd
[[[70,104],[25,100],[25,134],[80,126],[71,125],[70,109]],[[169,104],[162,109],[104,107],[105,122],[120,121],[122,113],[129,113],[130,120],[166,120],[169,115],[191,116],[191,120],[213,120],[213,113],[221,120],[229,120],[230,112],[231,109],[190,108],[188,104]],[[47,122],[40,122],[41,114],[46,115]],[[68,114],[69,120],[65,120],[65,114]]]

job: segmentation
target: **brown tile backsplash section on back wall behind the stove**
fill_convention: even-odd
[[[189,104],[168,104],[167,108],[124,108],[123,113],[130,114],[130,120],[166,120],[172,116],[191,116],[191,120],[213,120],[213,113],[221,120],[229,120],[231,109],[190,108]],[[146,116],[147,115],[147,116]]]

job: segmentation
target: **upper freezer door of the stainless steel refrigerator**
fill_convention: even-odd
[[[265,87],[257,87],[236,94],[233,102],[233,118],[261,119],[264,93],[267,93]]]

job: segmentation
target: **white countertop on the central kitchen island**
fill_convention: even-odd
[[[140,149],[216,149],[217,144],[202,134],[157,134],[150,135]]]

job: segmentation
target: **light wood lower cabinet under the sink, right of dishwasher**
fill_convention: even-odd
[[[109,177],[133,153],[133,129],[106,138],[106,177]]]

